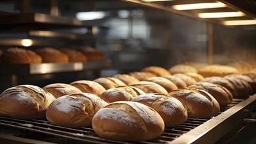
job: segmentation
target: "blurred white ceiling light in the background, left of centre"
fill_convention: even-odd
[[[76,18],[78,20],[97,20],[105,17],[105,12],[77,12]]]

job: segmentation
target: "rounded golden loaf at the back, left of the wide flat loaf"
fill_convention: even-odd
[[[179,65],[174,65],[168,69],[172,75],[175,73],[197,73],[198,71],[190,66],[190,65],[184,65],[184,64],[179,64]]]

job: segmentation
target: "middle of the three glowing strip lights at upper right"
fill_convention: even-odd
[[[238,17],[245,16],[243,12],[208,12],[198,14],[199,18],[228,18],[228,17]]]

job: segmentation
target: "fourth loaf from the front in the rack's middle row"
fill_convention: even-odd
[[[156,84],[159,84],[164,89],[166,89],[167,92],[172,92],[172,90],[177,89],[177,86],[174,84],[174,82],[169,81],[168,79],[165,79],[164,77],[151,77],[145,81],[155,82]]]

